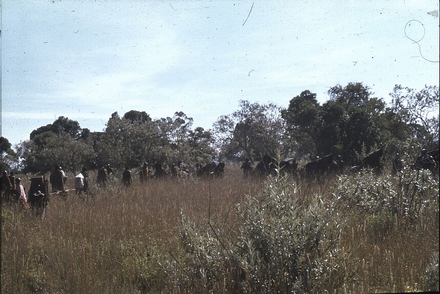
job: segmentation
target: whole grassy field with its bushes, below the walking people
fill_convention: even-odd
[[[118,175],[86,199],[53,195],[44,220],[3,204],[1,289],[438,290],[438,217],[438,177],[411,171],[264,182],[229,165],[221,179],[135,177],[128,189]]]

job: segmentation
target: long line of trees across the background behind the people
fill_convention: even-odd
[[[1,138],[3,169],[49,171],[54,165],[78,171],[109,163],[116,168],[137,167],[144,161],[190,165],[212,160],[260,161],[264,155],[314,158],[341,155],[359,163],[376,148],[392,158],[408,139],[423,148],[438,147],[437,86],[422,90],[396,85],[391,102],[375,97],[362,83],[336,85],[320,105],[316,93],[301,92],[286,108],[240,101],[239,109],[220,116],[213,128],[192,128],[183,112],[152,119],[145,111],[114,112],[102,132],[91,132],[59,116],[52,124],[30,133],[15,146]]]

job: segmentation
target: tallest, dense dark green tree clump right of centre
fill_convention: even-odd
[[[282,111],[286,133],[300,155],[333,153],[350,160],[382,144],[382,99],[372,97],[362,83],[336,85],[328,94],[329,100],[320,106],[316,94],[303,91]]]

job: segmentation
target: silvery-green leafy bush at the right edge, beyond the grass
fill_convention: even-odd
[[[438,211],[438,180],[430,171],[414,170],[408,164],[394,176],[378,177],[371,170],[343,175],[334,195],[345,208],[374,215],[386,211],[416,218]]]

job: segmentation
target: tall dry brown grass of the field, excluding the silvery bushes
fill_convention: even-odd
[[[96,174],[91,175],[92,184],[94,179]],[[335,177],[289,181],[297,183],[304,207],[317,195],[334,199]],[[73,188],[73,175],[67,187]],[[141,185],[134,177],[127,189],[117,175],[107,188],[95,188],[85,199],[74,193],[53,195],[44,220],[4,204],[2,293],[203,292],[201,285],[193,283],[188,289],[188,283],[176,279],[191,278],[193,270],[182,258],[180,213],[201,233],[234,242],[241,225],[235,205],[262,188],[262,181],[243,179],[238,166],[231,165],[221,179],[151,180]],[[330,291],[423,290],[429,257],[438,251],[438,201],[436,215],[415,222],[392,214],[338,212],[346,223],[340,240],[343,282],[335,282]],[[181,276],[170,272],[169,263],[177,265]],[[233,269],[219,266],[225,284],[240,279]]]

